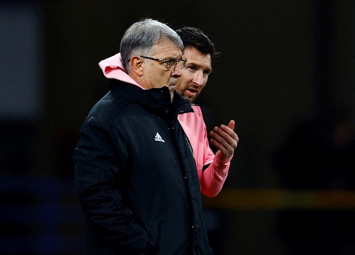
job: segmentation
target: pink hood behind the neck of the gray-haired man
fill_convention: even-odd
[[[122,59],[121,59],[121,53],[117,53],[112,57],[100,61],[99,67],[103,71],[106,78],[112,78],[112,79],[128,82],[137,87],[140,87],[141,89],[144,89],[140,84],[138,84],[134,79],[132,79],[124,70]]]

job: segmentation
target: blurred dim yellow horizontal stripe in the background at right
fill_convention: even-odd
[[[204,207],[222,209],[355,209],[355,191],[224,188],[202,197]]]

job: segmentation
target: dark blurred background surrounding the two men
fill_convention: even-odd
[[[214,254],[354,255],[354,0],[0,0],[0,254],[83,253],[71,155],[144,17],[221,52],[196,101],[240,138],[203,197]]]

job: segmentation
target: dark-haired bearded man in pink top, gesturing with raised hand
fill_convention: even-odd
[[[205,87],[212,72],[212,57],[218,54],[213,42],[200,29],[185,27],[177,30],[184,49],[183,58],[187,60],[182,75],[178,78],[176,90],[190,103],[197,98]],[[216,196],[227,178],[230,161],[239,138],[233,131],[235,122],[214,127],[210,132],[211,144],[218,150],[213,154],[207,138],[207,129],[201,108],[192,105],[194,112],[181,114],[181,123],[194,151],[201,192],[209,197]]]

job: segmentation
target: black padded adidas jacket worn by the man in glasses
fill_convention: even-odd
[[[86,254],[212,254],[188,139],[177,116],[192,111],[167,87],[109,79],[74,151]]]

